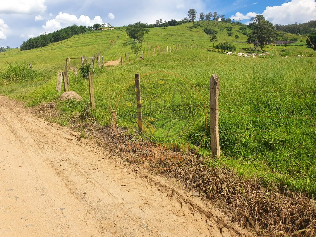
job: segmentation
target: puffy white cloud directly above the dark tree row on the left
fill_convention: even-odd
[[[94,19],[90,19],[89,16],[85,15],[77,18],[75,15],[59,12],[55,19],[46,21],[42,27],[45,29],[45,33],[51,33],[71,25],[93,26],[96,23],[103,24],[102,18],[98,15]]]

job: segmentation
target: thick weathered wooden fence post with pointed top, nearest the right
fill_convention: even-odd
[[[216,74],[213,74],[210,78],[211,150],[212,150],[212,155],[219,159],[221,156],[221,150],[220,150],[220,144],[219,144],[218,97],[219,97],[219,78]]]

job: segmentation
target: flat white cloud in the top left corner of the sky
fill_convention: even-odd
[[[10,0],[2,1],[0,13],[36,14],[46,10],[45,0]]]

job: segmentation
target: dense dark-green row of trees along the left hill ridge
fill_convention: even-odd
[[[29,50],[44,47],[49,45],[50,43],[66,40],[73,35],[81,34],[90,30],[92,30],[92,27],[76,25],[65,27],[53,33],[45,33],[40,36],[30,38],[27,41],[23,41],[22,45],[20,46],[20,50]]]

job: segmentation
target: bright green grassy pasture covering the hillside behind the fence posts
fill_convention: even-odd
[[[225,33],[227,23],[216,22],[218,42],[236,41],[237,52],[249,48],[246,36],[233,26],[233,37]],[[141,76],[145,137],[157,143],[189,143],[199,154],[210,155],[209,80],[217,74],[220,82],[221,161],[206,159],[210,166],[234,169],[245,178],[258,177],[266,185],[285,184],[295,191],[315,195],[316,185],[316,78],[315,55],[304,45],[267,46],[276,57],[240,58],[207,51],[212,48],[203,27],[192,23],[175,27],[151,28],[146,35],[152,45],[151,56],[144,60],[133,55],[125,60],[133,40],[122,30],[74,36],[47,47],[30,51],[11,50],[0,54],[2,87],[0,93],[25,101],[28,106],[56,100],[60,116],[67,125],[72,118],[90,113],[101,125],[113,122],[137,131],[134,74]],[[223,30],[220,30],[223,29]],[[223,31],[223,33],[221,33]],[[109,48],[109,40],[116,44]],[[185,35],[185,37],[184,37]],[[238,40],[237,40],[238,41]],[[181,50],[154,56],[153,48],[182,44]],[[191,49],[191,45],[198,49]],[[184,45],[187,45],[185,48]],[[190,46],[190,47],[189,47]],[[284,52],[281,52],[285,49]],[[94,76],[96,110],[87,110],[88,81],[70,72],[70,90],[78,92],[82,102],[61,102],[55,91],[56,77],[67,57],[88,56],[101,52],[105,61],[123,55],[124,66],[96,69]],[[293,57],[278,56],[284,53]],[[6,62],[32,63],[33,80],[8,82]],[[80,64],[80,59],[72,64]],[[13,63],[13,65],[15,65]],[[26,69],[25,69],[26,70]],[[169,72],[169,73],[168,73]],[[170,73],[171,72],[171,73]],[[267,116],[267,117],[258,117]],[[281,117],[282,116],[282,117]],[[309,119],[308,119],[309,118]],[[207,125],[207,126],[206,126]]]

